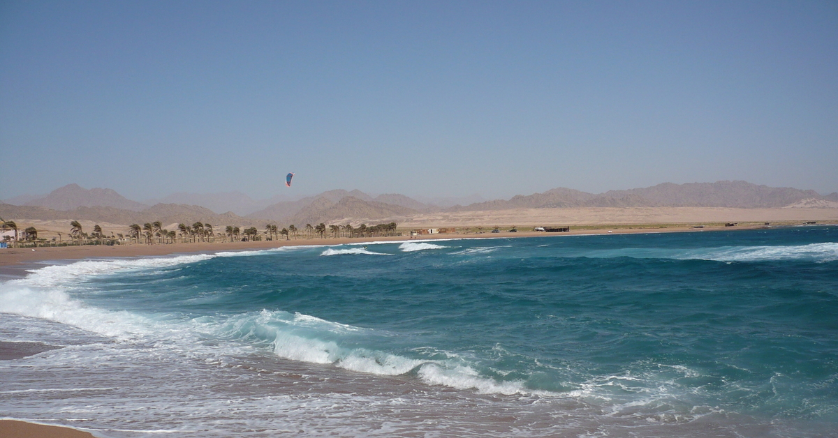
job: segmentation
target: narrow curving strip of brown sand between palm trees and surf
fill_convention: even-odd
[[[819,224],[829,225],[829,224]],[[243,250],[270,250],[283,246],[334,246],[334,245],[358,245],[373,242],[387,241],[422,241],[422,240],[456,240],[456,239],[520,239],[526,237],[561,237],[566,235],[589,235],[589,234],[644,234],[644,233],[688,233],[706,231],[736,231],[744,229],[778,228],[794,226],[794,224],[742,224],[736,227],[711,226],[695,228],[687,224],[635,224],[627,226],[618,225],[589,225],[591,228],[580,227],[567,232],[545,233],[543,231],[519,231],[510,233],[503,231],[492,233],[448,233],[448,234],[422,234],[420,236],[381,236],[369,238],[306,238],[292,240],[261,240],[254,242],[196,242],[196,243],[174,243],[174,244],[129,244],[129,245],[80,245],[80,246],[55,246],[39,248],[13,248],[0,250],[0,274],[7,276],[18,276],[15,271],[26,271],[34,265],[41,265],[44,262],[59,262],[62,260],[85,260],[91,258],[130,258],[174,254],[212,254],[220,251],[243,251]],[[18,273],[19,274],[19,273]]]

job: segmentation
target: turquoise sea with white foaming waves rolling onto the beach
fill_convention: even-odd
[[[56,263],[0,341],[0,417],[106,437],[835,436],[838,227]]]

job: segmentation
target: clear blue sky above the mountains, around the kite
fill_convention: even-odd
[[[838,3],[3,1],[0,151],[0,198],[830,193]]]

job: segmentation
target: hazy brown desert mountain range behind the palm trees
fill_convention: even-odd
[[[473,197],[472,197],[473,198]],[[255,226],[271,221],[278,224],[375,223],[376,220],[439,211],[481,211],[503,209],[546,209],[570,207],[731,207],[731,208],[831,208],[838,193],[822,196],[813,190],[773,188],[744,181],[716,183],[662,183],[649,188],[587,193],[572,188],[553,188],[544,193],[516,195],[468,205],[443,208],[422,203],[398,193],[376,196],[343,189],[292,200],[280,197],[254,201],[244,193],[197,195],[175,193],[151,206],[132,201],[110,188],[81,188],[69,184],[42,197],[17,197],[18,205],[0,204],[0,216],[11,219],[88,219],[111,224],[142,224],[155,220],[191,224],[209,222],[216,226]],[[266,202],[272,204],[264,205]],[[194,204],[188,204],[194,202]],[[234,206],[240,213],[216,211]],[[256,209],[262,206],[261,209]],[[255,209],[255,210],[254,210]]]

